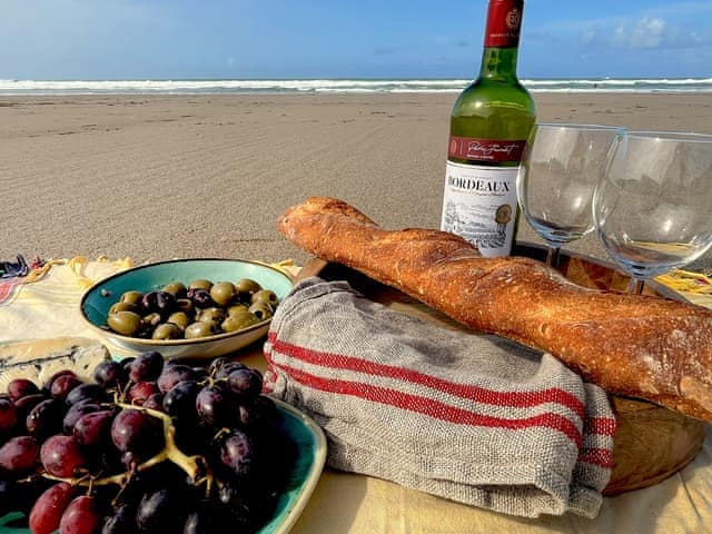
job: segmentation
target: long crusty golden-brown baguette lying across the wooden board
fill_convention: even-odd
[[[712,422],[712,312],[577,286],[541,261],[484,258],[453,234],[387,231],[338,199],[288,208],[279,231],[454,320],[551,353],[584,379]]]

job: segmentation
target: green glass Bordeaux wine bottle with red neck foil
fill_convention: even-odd
[[[535,120],[516,76],[523,0],[490,0],[479,76],[455,101],[441,229],[486,257],[508,256],[520,209],[516,175]]]

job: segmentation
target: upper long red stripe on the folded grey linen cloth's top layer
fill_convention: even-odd
[[[308,362],[313,365],[397,378],[399,380],[411,382],[413,384],[419,384],[433,389],[442,390],[453,396],[476,400],[482,404],[530,408],[542,404],[553,403],[571,409],[581,418],[581,421],[583,421],[585,416],[583,402],[571,393],[557,387],[537,389],[534,392],[497,392],[471,384],[458,384],[445,380],[433,375],[418,373],[417,370],[404,367],[377,364],[375,362],[368,362],[353,356],[313,350],[285,343],[281,339],[278,339],[274,332],[268,334],[268,340],[271,343],[273,348],[278,353]],[[267,347],[265,347],[265,356],[269,359],[269,355],[267,353]]]

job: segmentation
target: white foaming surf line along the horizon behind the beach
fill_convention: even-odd
[[[0,96],[459,92],[465,79],[0,80]],[[524,79],[534,92],[712,92],[712,78]]]

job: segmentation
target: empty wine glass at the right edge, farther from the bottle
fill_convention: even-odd
[[[712,246],[712,136],[621,132],[593,218],[603,247],[631,275],[629,293],[702,256]]]

